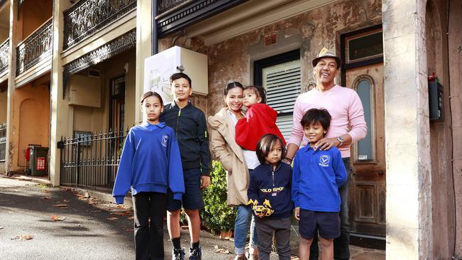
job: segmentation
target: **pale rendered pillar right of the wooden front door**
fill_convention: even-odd
[[[382,1],[387,259],[431,258],[425,0]]]

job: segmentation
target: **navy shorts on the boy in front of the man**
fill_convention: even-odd
[[[321,212],[300,209],[299,232],[304,239],[312,239],[318,228],[324,239],[340,237],[340,215],[338,212]]]

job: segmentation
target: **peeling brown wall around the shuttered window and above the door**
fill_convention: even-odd
[[[209,114],[223,105],[222,90],[230,80],[253,84],[253,62],[300,49],[302,92],[315,82],[311,60],[326,46],[340,53],[341,33],[382,23],[381,1],[338,1],[269,26],[208,46]],[[276,33],[276,43],[265,46],[264,36]],[[338,77],[337,82],[339,82]]]

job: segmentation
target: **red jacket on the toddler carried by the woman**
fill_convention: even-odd
[[[239,119],[236,124],[236,143],[242,148],[255,151],[259,139],[265,134],[275,134],[286,140],[276,126],[277,112],[267,104],[252,104],[245,118]]]

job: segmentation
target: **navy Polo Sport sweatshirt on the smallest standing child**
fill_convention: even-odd
[[[247,197],[249,200],[257,200],[263,205],[264,200],[269,200],[272,215],[267,218],[277,219],[290,217],[294,204],[291,201],[291,166],[279,162],[273,170],[271,164],[261,164],[250,173]]]

